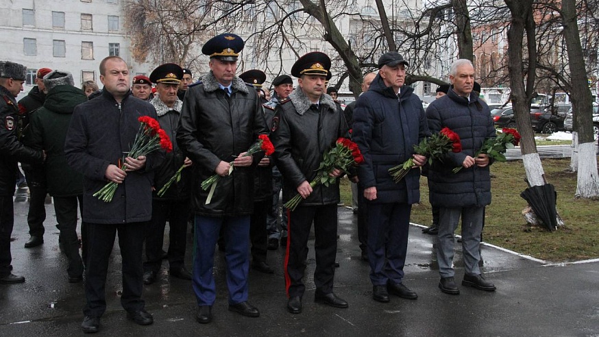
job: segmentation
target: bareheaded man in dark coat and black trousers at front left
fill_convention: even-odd
[[[151,188],[154,168],[162,162],[162,150],[138,158],[125,157],[138,130],[140,116],[156,119],[156,110],[131,95],[129,68],[118,56],[100,62],[101,96],[75,107],[64,153],[69,165],[84,175],[84,210],[88,234],[86,260],[84,332],[99,330],[100,316],[106,311],[105,284],[108,259],[119,232],[123,259],[121,305],[127,318],[140,325],[154,322],[144,310],[142,250],[145,228],[151,219]],[[122,162],[121,162],[122,160]],[[121,168],[125,166],[125,169]],[[94,193],[107,182],[117,184],[112,201]]]

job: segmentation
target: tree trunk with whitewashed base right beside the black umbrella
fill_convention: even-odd
[[[524,30],[526,28],[527,37],[530,34],[530,19],[533,13],[533,1],[531,0],[506,0],[506,5],[511,12],[511,24],[508,30],[508,71],[510,77],[511,100],[516,118],[516,128],[522,139],[520,140],[520,151],[522,153],[522,161],[524,162],[524,170],[526,171],[526,179],[530,186],[540,186],[546,184],[545,173],[541,158],[537,153],[537,145],[535,143],[535,134],[533,133],[533,125],[530,123],[530,96],[528,92],[532,92],[532,84],[535,80],[535,73],[528,72],[528,76],[524,74],[524,59],[522,56],[522,46],[524,45]],[[534,25],[533,25],[534,29]],[[528,62],[536,57],[536,50],[533,42],[528,37]],[[532,44],[532,46],[531,46]],[[533,61],[534,62],[534,61]],[[524,78],[526,77],[527,88],[524,87]]]

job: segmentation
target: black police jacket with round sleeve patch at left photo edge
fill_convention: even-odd
[[[26,147],[17,137],[19,108],[12,94],[0,86],[0,197],[14,195],[17,162],[42,164],[42,151]]]

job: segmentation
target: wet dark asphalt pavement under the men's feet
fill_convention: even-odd
[[[50,201],[49,199],[47,200]],[[0,336],[81,336],[83,284],[69,284],[66,259],[58,249],[53,205],[47,203],[45,243],[25,249],[26,190],[15,197],[12,237],[14,273],[24,284],[0,285]],[[417,300],[391,296],[390,303],[371,299],[369,266],[360,260],[356,216],[339,208],[339,245],[334,291],[350,308],[336,309],[313,302],[315,268],[310,240],[306,294],[302,314],[286,312],[282,265],[284,250],[269,251],[273,275],[250,271],[249,302],[260,317],[247,318],[227,310],[223,256],[215,257],[217,302],[208,325],[195,321],[191,282],[170,278],[164,262],[158,282],[144,286],[146,309],[154,324],[138,326],[121,308],[121,257],[115,244],[106,294],[108,309],[97,336],[599,336],[599,262],[550,264],[531,260],[496,247],[482,247],[483,273],[496,292],[460,286],[461,295],[443,294],[439,282],[434,237],[411,226],[404,284]],[[168,231],[167,231],[168,234]],[[168,238],[165,238],[168,245]],[[191,269],[191,235],[186,256]],[[463,263],[456,245],[456,282]]]

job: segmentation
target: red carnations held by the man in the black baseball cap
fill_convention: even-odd
[[[441,160],[441,157],[450,150],[454,153],[461,152],[462,143],[460,142],[460,136],[449,127],[443,127],[439,134],[433,134],[421,140],[418,145],[414,145],[414,153],[428,158],[428,164],[432,164],[433,160]],[[389,168],[389,174],[393,177],[393,182],[401,182],[413,166],[414,158],[410,157],[403,164]]]

